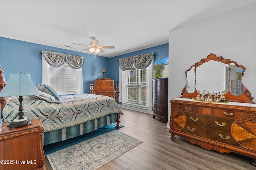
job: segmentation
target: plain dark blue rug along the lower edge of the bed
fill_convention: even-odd
[[[98,135],[102,135],[104,133],[107,133],[109,131],[112,131],[114,129],[119,129],[121,127],[124,127],[123,125],[120,125],[120,127],[116,127],[116,123],[112,123],[110,125],[106,125],[104,127],[101,127],[100,129],[97,129],[96,131],[92,131],[90,133],[86,133],[84,135],[80,135],[78,137],[74,137],[71,139],[66,139],[65,141],[60,141],[56,143],[52,143],[49,145],[44,145],[44,154],[50,154],[52,152],[56,152],[58,150],[64,149],[66,147],[70,147],[72,145],[75,145],[77,143],[80,143],[82,141],[91,139],[93,137],[96,137]]]

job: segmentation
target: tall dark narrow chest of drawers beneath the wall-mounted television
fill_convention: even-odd
[[[153,79],[153,117],[168,121],[168,78]]]

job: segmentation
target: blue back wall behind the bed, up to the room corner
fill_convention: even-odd
[[[42,50],[78,55],[85,59],[83,65],[84,93],[90,92],[90,81],[98,78],[98,73],[102,74],[102,68],[109,70],[109,58],[107,57],[96,56],[94,58],[94,55],[77,51],[0,37],[0,64],[6,82],[10,73],[24,72],[30,74],[35,86],[42,84],[42,54],[40,53]]]

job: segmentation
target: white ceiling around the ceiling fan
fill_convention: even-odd
[[[0,0],[0,37],[114,57],[168,43],[168,32],[256,0]],[[65,47],[64,45],[71,46]],[[127,51],[129,49],[129,51]]]

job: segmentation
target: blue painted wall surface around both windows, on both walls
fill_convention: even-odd
[[[78,55],[85,59],[83,65],[84,93],[90,92],[90,82],[94,82],[98,78],[98,73],[102,77],[102,68],[106,68],[105,77],[111,78],[115,82],[118,81],[118,59],[150,52],[154,53],[155,61],[168,57],[168,43],[112,58],[97,55],[94,58],[94,55],[91,54],[0,37],[0,64],[4,71],[6,82],[10,73],[24,72],[30,74],[35,86],[42,84],[42,54],[40,53],[42,50]]]

